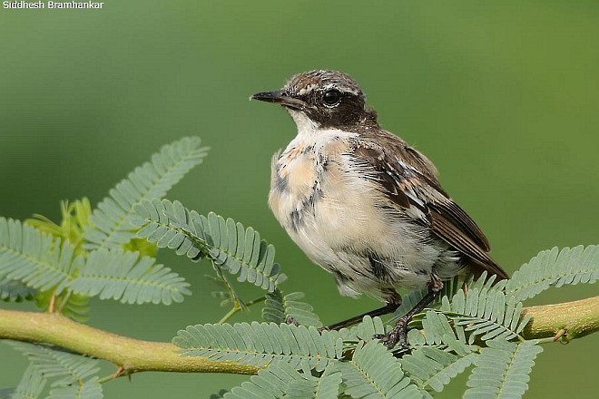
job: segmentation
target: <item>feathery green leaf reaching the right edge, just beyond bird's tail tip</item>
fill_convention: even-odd
[[[539,252],[507,282],[506,294],[521,301],[555,286],[594,283],[599,279],[599,246]]]

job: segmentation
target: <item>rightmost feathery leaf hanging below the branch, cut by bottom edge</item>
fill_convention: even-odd
[[[476,356],[464,398],[519,398],[528,389],[528,376],[535,357],[543,351],[535,341],[521,344],[492,339]]]

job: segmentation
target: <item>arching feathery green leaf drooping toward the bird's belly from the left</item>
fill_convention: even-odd
[[[218,268],[229,270],[238,281],[248,281],[270,292],[286,278],[274,262],[275,250],[252,228],[214,213],[208,217],[183,207],[179,201],[152,199],[135,207],[141,227],[138,236],[159,248],[172,248],[191,259],[210,258]]]

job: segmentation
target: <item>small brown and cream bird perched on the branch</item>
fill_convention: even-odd
[[[366,294],[395,310],[398,288],[427,294],[380,342],[408,349],[408,322],[444,281],[469,273],[508,278],[475,221],[441,187],[432,161],[382,129],[349,74],[298,73],[250,99],[281,105],[297,135],[271,161],[269,206],[342,296]]]

